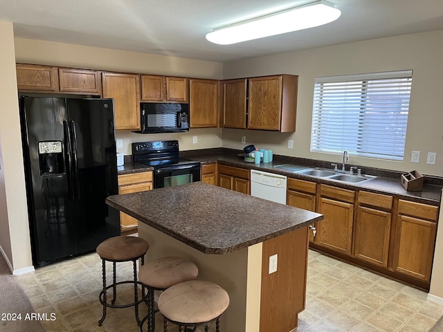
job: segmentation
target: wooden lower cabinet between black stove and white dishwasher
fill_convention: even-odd
[[[251,194],[249,170],[226,165],[219,165],[219,187],[243,194]]]

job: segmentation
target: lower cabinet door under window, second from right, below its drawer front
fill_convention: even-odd
[[[359,206],[355,225],[354,257],[388,266],[391,214]]]

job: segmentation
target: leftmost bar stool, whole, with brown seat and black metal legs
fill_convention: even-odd
[[[137,281],[137,261],[141,258],[141,265],[145,264],[144,256],[150,244],[139,237],[111,237],[102,241],[97,247],[97,253],[102,259],[102,273],[103,273],[103,289],[98,295],[100,303],[103,305],[103,315],[98,321],[98,326],[102,326],[106,318],[106,309],[109,308],[128,308],[134,306],[137,324],[140,324],[138,317],[138,304],[147,299],[145,295],[145,288],[141,282]],[[106,261],[111,261],[113,265],[113,282],[110,286],[106,286]],[[116,263],[123,261],[132,261],[134,266],[134,280],[124,282],[116,282]],[[115,304],[117,297],[117,286],[120,284],[134,284],[134,302],[129,304]],[[138,299],[138,285],[142,288],[142,298]],[[107,290],[112,288],[113,298],[111,303],[107,302]]]

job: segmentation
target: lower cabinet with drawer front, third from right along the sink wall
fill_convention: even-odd
[[[320,185],[318,213],[323,214],[324,219],[318,221],[316,227],[314,242],[318,246],[351,255],[354,195],[352,190]]]

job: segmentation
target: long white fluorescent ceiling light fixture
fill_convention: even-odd
[[[340,15],[341,11],[334,8],[333,3],[319,0],[214,29],[206,35],[206,39],[215,44],[235,44],[246,40],[321,26],[335,21]]]

